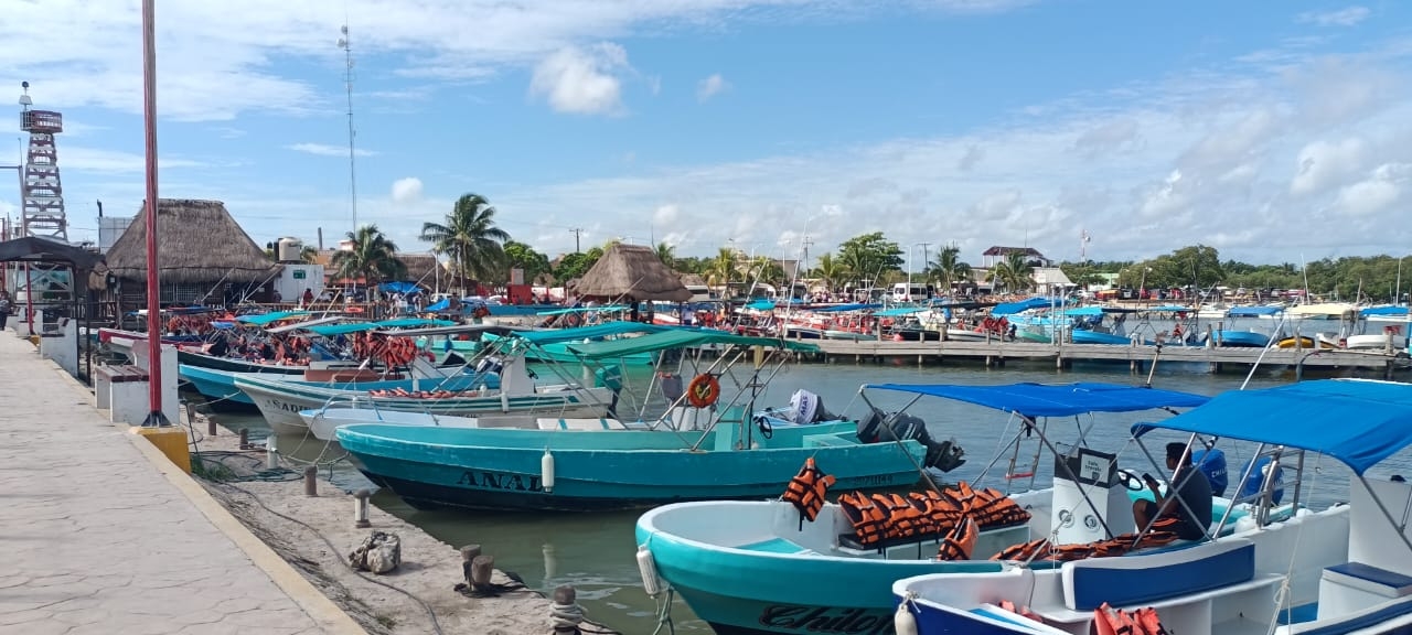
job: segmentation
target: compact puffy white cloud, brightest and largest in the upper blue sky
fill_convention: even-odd
[[[530,93],[545,96],[561,113],[613,114],[623,109],[623,82],[631,71],[627,51],[613,42],[555,51],[534,69]]]

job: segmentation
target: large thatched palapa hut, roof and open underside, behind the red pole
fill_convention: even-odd
[[[145,207],[107,251],[109,291],[127,306],[147,301]],[[257,288],[280,271],[219,200],[158,199],[157,231],[162,305],[219,303],[227,286]]]

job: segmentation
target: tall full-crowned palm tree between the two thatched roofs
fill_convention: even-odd
[[[421,238],[432,243],[432,251],[450,257],[452,268],[462,282],[494,275],[505,258],[505,230],[496,227],[496,209],[484,196],[462,195],[446,214],[445,224],[422,223]]]

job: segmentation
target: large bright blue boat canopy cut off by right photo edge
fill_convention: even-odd
[[[1152,429],[1195,432],[1317,452],[1363,474],[1412,445],[1412,384],[1319,380],[1260,391],[1228,391]]]

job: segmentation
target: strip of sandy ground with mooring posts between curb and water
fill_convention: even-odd
[[[241,522],[295,566],[316,587],[343,607],[363,628],[377,635],[433,634],[428,607],[445,634],[477,635],[545,635],[551,632],[551,603],[541,594],[515,588],[498,597],[473,598],[453,590],[463,580],[460,552],[439,542],[417,526],[370,505],[369,529],[353,526],[354,501],[325,480],[319,480],[318,497],[304,494],[302,478],[289,474],[289,481],[239,480],[264,470],[264,449],[240,453],[234,433],[219,429],[217,436],[205,436],[206,422],[198,415],[196,439],[202,452],[220,454],[219,466],[206,460],[208,473],[215,480],[199,480]],[[192,457],[196,463],[196,457]],[[304,467],[285,463],[302,476]],[[229,478],[229,480],[226,480]],[[280,518],[261,508],[297,518],[313,528]],[[402,563],[387,574],[359,574],[346,566],[347,555],[373,531],[397,533],[402,542]],[[333,545],[319,538],[322,535]],[[486,555],[494,555],[494,545],[484,545]],[[380,586],[369,579],[415,595]],[[503,572],[491,580],[507,587],[520,587]],[[424,605],[425,604],[425,605]]]

